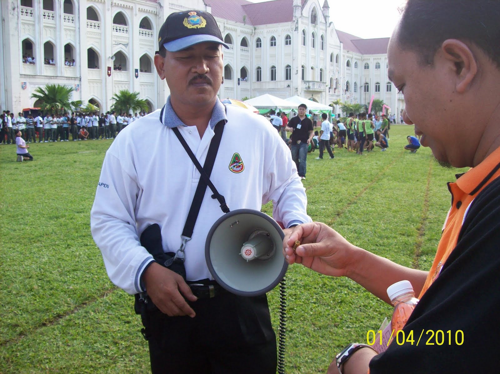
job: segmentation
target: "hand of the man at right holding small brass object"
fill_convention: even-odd
[[[305,223],[292,229],[291,234],[283,241],[283,255],[288,264],[302,264],[318,273],[333,277],[347,274],[359,248],[324,223]],[[293,250],[297,240],[300,245]]]

